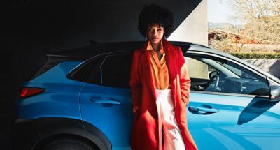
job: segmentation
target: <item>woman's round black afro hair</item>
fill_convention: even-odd
[[[174,15],[172,11],[155,4],[145,5],[139,14],[139,32],[145,37],[148,27],[153,24],[164,27],[165,37],[168,38],[173,31]]]

